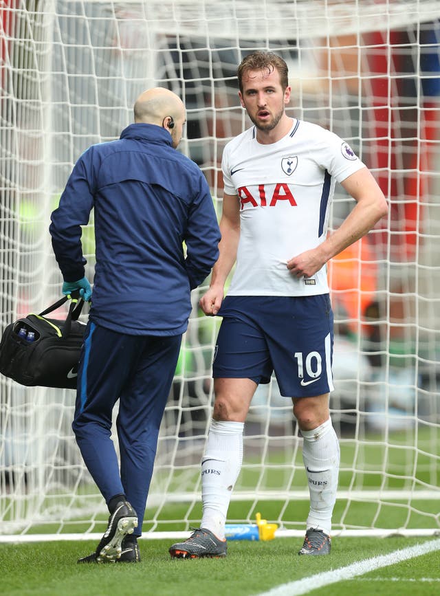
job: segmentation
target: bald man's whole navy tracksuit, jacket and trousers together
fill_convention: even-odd
[[[206,179],[171,142],[159,126],[131,124],[120,140],[91,146],[50,225],[64,280],[79,280],[85,274],[80,226],[94,208],[96,271],[72,428],[106,503],[124,495],[134,507],[133,536],[142,533],[190,289],[219,254]],[[111,440],[118,400],[120,465]]]

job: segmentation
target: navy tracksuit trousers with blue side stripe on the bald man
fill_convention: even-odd
[[[181,335],[124,335],[87,324],[78,367],[72,428],[85,465],[102,496],[125,494],[142,520],[157,449],[157,437],[173,382]],[[116,419],[120,465],[111,440]]]

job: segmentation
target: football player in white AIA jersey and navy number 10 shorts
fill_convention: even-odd
[[[243,427],[260,383],[275,373],[292,397],[303,437],[310,510],[300,555],[331,548],[339,443],[329,414],[333,313],[326,263],[387,213],[373,175],[337,135],[285,113],[285,61],[246,56],[239,98],[253,126],[223,151],[220,256],[200,305],[223,317],[214,354],[214,411],[202,457],[200,529],[173,544],[173,558],[224,557],[224,526],[243,460]],[[356,204],[327,235],[338,181]],[[224,286],[234,263],[228,296]]]

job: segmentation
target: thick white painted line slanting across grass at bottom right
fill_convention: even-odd
[[[375,571],[375,569],[394,565],[395,563],[419,557],[420,555],[426,555],[426,553],[432,553],[432,551],[440,551],[440,538],[437,538],[437,540],[428,540],[428,542],[423,542],[423,544],[416,544],[414,547],[394,551],[387,555],[358,561],[357,563],[352,563],[351,565],[347,565],[347,567],[341,567],[334,571],[325,571],[324,573],[304,577],[303,580],[282,584],[267,592],[262,592],[259,596],[300,596],[312,590],[329,586],[329,584],[336,584],[336,582],[341,582],[342,580],[351,580],[357,575],[364,575],[370,571]]]

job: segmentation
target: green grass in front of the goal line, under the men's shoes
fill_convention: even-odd
[[[95,542],[36,542],[0,545],[4,596],[247,596],[276,586],[279,596],[296,594],[434,596],[440,588],[437,550],[369,573],[316,588],[316,582],[356,562],[380,557],[438,538],[338,538],[331,555],[298,557],[301,540],[233,541],[225,559],[172,560],[170,540],[141,540],[139,564],[78,565]],[[309,580],[307,580],[309,578]],[[318,578],[318,579],[317,579]],[[298,591],[304,580],[307,591]],[[296,582],[292,584],[291,582]],[[285,585],[287,584],[287,585]]]

